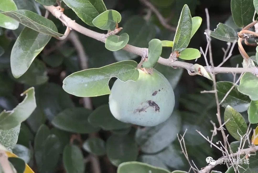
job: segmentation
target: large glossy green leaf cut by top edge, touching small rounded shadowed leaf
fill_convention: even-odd
[[[63,0],[77,16],[90,26],[94,26],[92,20],[107,10],[102,0]]]

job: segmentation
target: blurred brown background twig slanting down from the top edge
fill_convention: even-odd
[[[171,31],[176,31],[175,27],[170,26],[170,24],[167,23],[167,20],[160,14],[160,12],[156,9],[156,7],[150,3],[148,0],[140,0],[144,5],[146,5],[152,12],[154,12],[159,19],[160,23],[162,26],[165,28],[171,30]]]

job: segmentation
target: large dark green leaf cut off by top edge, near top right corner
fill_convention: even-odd
[[[232,17],[238,27],[253,21],[254,10],[254,0],[231,0]]]

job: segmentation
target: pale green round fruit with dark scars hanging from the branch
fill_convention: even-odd
[[[113,116],[126,123],[156,126],[173,112],[175,95],[168,80],[157,70],[152,74],[138,69],[136,82],[117,79],[109,95]]]

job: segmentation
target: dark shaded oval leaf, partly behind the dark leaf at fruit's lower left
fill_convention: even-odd
[[[93,133],[98,131],[88,122],[88,116],[91,111],[85,108],[70,108],[66,109],[52,120],[53,126],[61,130],[74,133]]]

